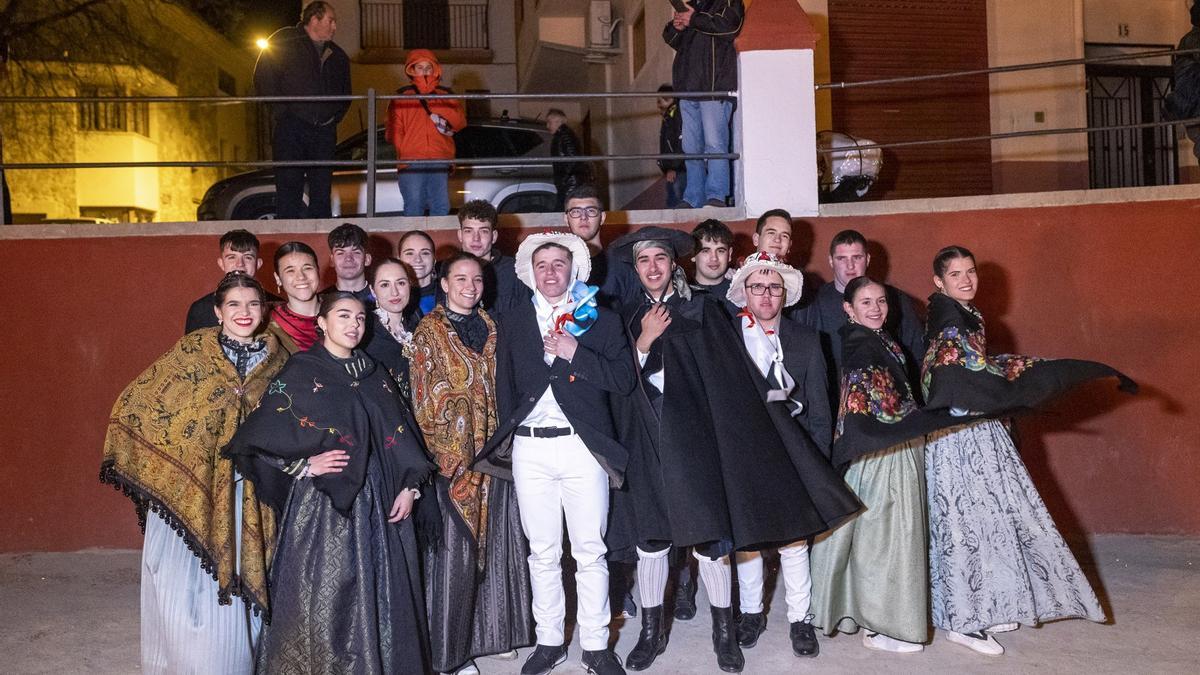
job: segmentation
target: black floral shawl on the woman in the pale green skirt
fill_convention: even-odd
[[[834,466],[846,467],[866,454],[965,422],[918,407],[905,375],[904,351],[886,331],[850,323],[839,334],[842,366]]]

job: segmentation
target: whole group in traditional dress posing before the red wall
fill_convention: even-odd
[[[534,646],[522,673],[550,673],[564,524],[590,673],[652,668],[697,585],[716,665],[740,671],[769,550],[798,657],[817,631],[917,652],[932,623],[1000,655],[1020,625],[1104,620],[1007,419],[1086,380],[1135,386],[989,353],[971,251],[936,252],[922,329],[854,231],[805,293],[782,210],[736,269],[715,220],[606,245],[588,185],[564,219],[510,257],[494,209],[468,203],[437,264],[422,232],[373,261],[343,225],[325,291],[310,246],[276,250],[280,298],[258,240],[221,239],[215,293],[106,438],[101,479],[145,528],[143,670],[478,673]],[[622,563],[641,616],[624,659]]]

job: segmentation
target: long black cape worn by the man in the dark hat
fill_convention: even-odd
[[[623,312],[634,344],[648,306]],[[716,303],[672,297],[667,306],[671,324],[646,366],[662,369],[665,393],[640,369],[634,395],[614,398],[630,459],[625,485],[613,492],[610,549],[761,548],[823,532],[856,512],[858,502],[821,468],[820,450],[786,407],[764,405],[748,370],[754,364]],[[812,476],[802,479],[798,468]]]

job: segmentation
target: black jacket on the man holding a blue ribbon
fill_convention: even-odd
[[[476,460],[476,468],[512,479],[512,432],[533,412],[550,387],[583,444],[608,473],[612,486],[624,482],[629,453],[617,442],[610,396],[629,396],[636,384],[629,344],[614,312],[600,316],[577,338],[575,358],[542,358],[542,330],[533,303],[499,319],[496,346],[496,399],[499,429]]]

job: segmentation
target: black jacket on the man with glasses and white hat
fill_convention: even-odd
[[[733,325],[740,333],[742,318],[734,318]],[[828,459],[833,443],[833,406],[821,335],[802,323],[780,317],[779,342],[784,347],[784,369],[796,381],[792,399],[804,405],[794,419]]]

